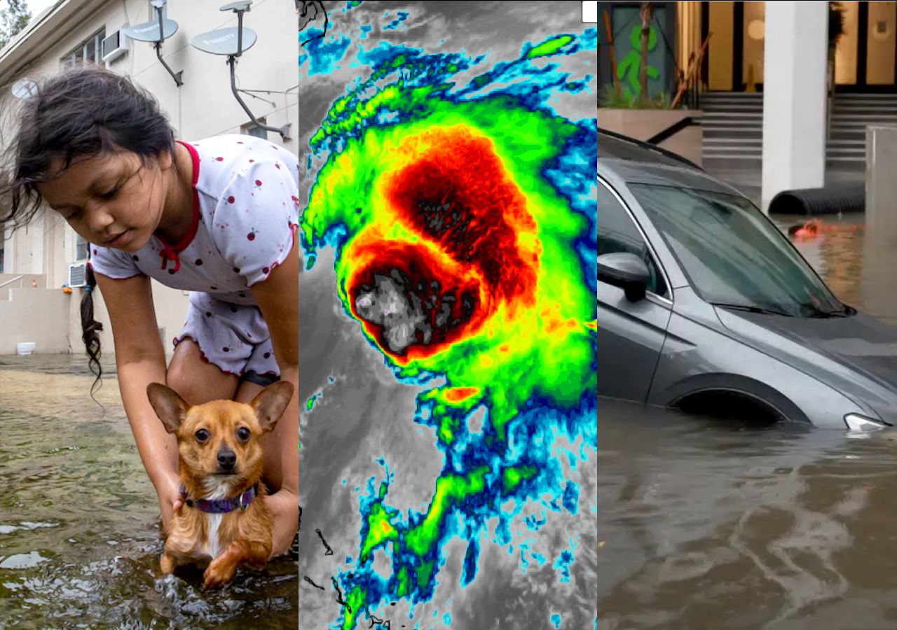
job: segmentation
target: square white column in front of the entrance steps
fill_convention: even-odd
[[[762,206],[825,183],[828,3],[767,2]]]

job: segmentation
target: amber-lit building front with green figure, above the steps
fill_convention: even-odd
[[[641,49],[639,2],[599,2],[599,85],[611,83],[612,65],[625,89],[638,92]],[[698,79],[706,91],[762,91],[765,2],[652,2],[649,92],[675,91],[676,81],[698,56]],[[785,4],[791,4],[786,2]],[[824,5],[824,2],[809,4]],[[843,34],[833,47],[835,91],[897,92],[897,2],[838,2]],[[607,36],[607,13],[614,57]]]

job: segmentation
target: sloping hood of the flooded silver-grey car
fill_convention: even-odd
[[[897,425],[897,330],[874,317],[805,318],[716,308],[753,348],[797,367]],[[866,405],[863,405],[863,403]]]

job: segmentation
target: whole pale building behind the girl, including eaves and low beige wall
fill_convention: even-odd
[[[161,65],[150,43],[128,40],[126,51],[102,61],[104,39],[126,26],[155,19],[149,0],[60,0],[36,16],[19,36],[0,50],[0,148],[11,142],[15,111],[20,103],[20,80],[39,80],[66,65],[100,63],[128,76],[159,100],[177,137],[187,141],[218,134],[256,134],[292,153],[295,140],[254,125],[231,93],[226,56],[212,55],[189,45],[194,36],[236,27],[237,15],[220,10],[223,0],[173,0],[167,19],[178,30],[162,46],[162,58],[175,73],[178,86]],[[260,122],[281,127],[298,119],[296,67],[297,8],[290,0],[255,0],[244,14],[244,27],[257,33],[257,42],[239,58],[236,76],[241,98]],[[111,42],[106,52],[110,52]],[[293,138],[296,136],[292,123]],[[65,293],[69,267],[83,263],[87,247],[55,212],[45,211],[30,225],[13,232],[0,226],[0,354],[15,352],[20,341],[35,341],[38,352],[81,352],[79,306],[83,289]],[[98,294],[97,319],[108,322]],[[186,292],[153,282],[160,334],[167,352],[187,311]],[[112,348],[109,326],[103,347]]]

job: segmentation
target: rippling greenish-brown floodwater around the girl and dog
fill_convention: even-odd
[[[91,401],[80,355],[0,357],[0,628],[294,628],[298,566],[162,577],[159,506],[114,367]]]

